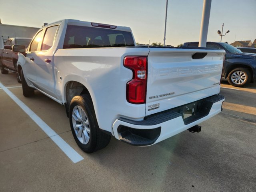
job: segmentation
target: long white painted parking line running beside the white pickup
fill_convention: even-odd
[[[84,158],[78,154],[69,144],[66,143],[52,128],[50,128],[39,116],[37,116],[28,106],[26,106],[21,100],[19,100],[8,88],[6,88],[2,83],[0,83],[0,88],[24,110],[28,116],[36,123],[38,126],[52,139],[52,141],[58,145],[58,147],[72,160],[72,162],[77,163]]]

